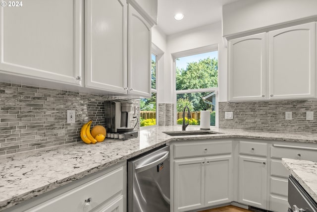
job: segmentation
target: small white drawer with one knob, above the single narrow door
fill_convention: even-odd
[[[241,154],[266,156],[267,143],[240,141],[239,152]]]

